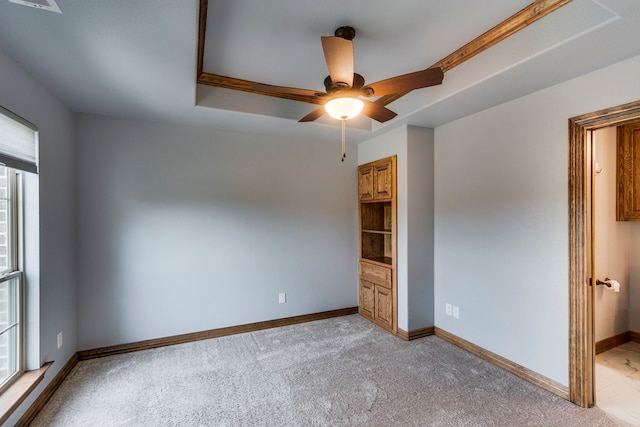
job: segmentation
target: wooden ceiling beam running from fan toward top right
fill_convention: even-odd
[[[482,53],[490,47],[500,43],[507,37],[510,37],[518,31],[528,27],[539,19],[544,18],[567,3],[571,3],[571,1],[572,0],[536,0],[520,12],[505,19],[486,33],[476,37],[429,68],[440,67],[442,68],[442,71],[446,73],[479,53]],[[378,104],[388,105],[408,93],[409,92],[403,92],[382,96],[376,102]]]

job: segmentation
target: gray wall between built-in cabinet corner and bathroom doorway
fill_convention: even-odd
[[[568,385],[567,122],[640,99],[638,75],[635,57],[435,129],[436,326]]]

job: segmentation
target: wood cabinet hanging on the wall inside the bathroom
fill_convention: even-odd
[[[640,123],[618,127],[618,221],[640,221]]]

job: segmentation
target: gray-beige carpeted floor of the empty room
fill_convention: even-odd
[[[32,426],[623,426],[358,315],[78,363]]]

